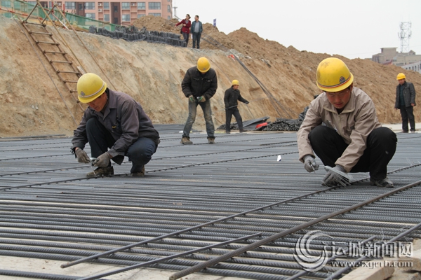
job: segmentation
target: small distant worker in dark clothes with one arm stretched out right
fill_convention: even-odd
[[[238,80],[232,80],[232,86],[228,90],[225,90],[224,103],[225,103],[225,133],[229,134],[231,131],[231,118],[234,115],[237,125],[239,126],[240,132],[245,132],[243,129],[243,119],[241,118],[239,111],[238,100],[248,104],[246,99],[241,97],[239,91],[240,83]]]

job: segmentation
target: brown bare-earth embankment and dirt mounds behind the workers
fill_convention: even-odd
[[[176,22],[146,16],[134,25],[178,33],[179,27],[174,28]],[[98,73],[113,90],[131,94],[154,123],[185,123],[187,99],[180,83],[185,71],[194,66],[199,57],[208,57],[218,74],[218,91],[212,99],[215,127],[225,123],[223,97],[233,79],[240,80],[241,95],[250,101],[248,106],[239,106],[244,120],[263,116],[269,116],[272,121],[297,118],[314,94],[320,92],[315,85],[316,67],[329,57],[300,52],[292,46],[286,48],[245,28],[225,34],[208,23],[203,25],[200,50],[145,41],[127,42],[81,32],[76,36],[65,29],[60,29],[60,33],[52,27],[47,29],[76,66]],[[0,15],[0,102],[4,105],[0,112],[3,120],[0,137],[71,135],[82,116],[81,105],[76,104],[75,94],[68,92],[27,35],[20,22]],[[219,50],[217,45],[229,51]],[[246,69],[229,57],[231,53],[241,59]],[[421,90],[420,74],[367,59],[340,58],[354,73],[356,87],[361,87],[373,99],[380,122],[399,123],[399,111],[394,110],[396,74],[405,73],[418,91]],[[269,92],[264,92],[248,71]],[[415,116],[420,116],[419,108],[415,107]],[[198,112],[194,128],[202,130],[203,115]]]

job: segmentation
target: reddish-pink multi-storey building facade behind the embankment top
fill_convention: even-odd
[[[27,1],[36,3],[34,1]],[[171,20],[173,18],[173,0],[151,0],[132,2],[127,0],[89,2],[55,1],[67,13],[82,17],[113,23],[115,25],[132,25],[135,20],[145,15]],[[41,1],[42,6],[51,8],[52,2]]]

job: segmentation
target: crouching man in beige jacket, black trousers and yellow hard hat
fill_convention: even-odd
[[[320,62],[317,86],[323,93],[312,101],[298,130],[300,161],[307,172],[319,169],[315,153],[333,167],[327,168],[323,186],[337,186],[349,172],[370,172],[372,186],[392,188],[387,164],[396,151],[396,134],[382,127],[373,101],[353,81],[342,60]]]

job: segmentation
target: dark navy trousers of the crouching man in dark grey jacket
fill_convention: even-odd
[[[112,134],[96,118],[90,118],[86,122],[86,135],[89,146],[91,146],[92,158],[98,158],[116,143]],[[125,155],[132,162],[131,173],[140,172],[142,167],[151,160],[156,148],[158,147],[155,142],[147,137],[139,137],[135,143],[129,146]],[[119,165],[123,159],[123,155],[112,158]],[[109,162],[109,166],[111,166],[111,162]]]

